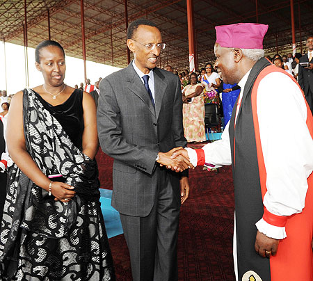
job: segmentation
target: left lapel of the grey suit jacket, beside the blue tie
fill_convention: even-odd
[[[151,111],[151,113],[154,116],[156,116],[150,96],[147,93],[147,90],[145,89],[145,86],[143,85],[141,78],[138,77],[138,74],[134,70],[132,63],[129,63],[127,67],[127,75],[125,77],[125,81],[128,82],[127,88],[129,88],[131,93],[134,93],[136,96],[142,99],[143,102],[147,105],[147,107]]]

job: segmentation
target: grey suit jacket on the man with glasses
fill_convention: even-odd
[[[112,206],[121,214],[147,216],[162,179],[179,200],[179,173],[155,162],[158,152],[186,146],[179,78],[154,69],[155,110],[131,63],[102,79],[99,88],[99,142],[114,159]]]

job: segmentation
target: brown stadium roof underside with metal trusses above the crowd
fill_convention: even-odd
[[[83,3],[87,60],[125,67],[125,0],[84,0]],[[266,54],[276,53],[276,46],[281,54],[291,51],[290,1],[194,0],[194,24],[200,67],[207,61],[214,60],[214,26],[257,22],[256,3],[258,22],[269,25],[264,38]],[[60,42],[67,55],[82,58],[80,0],[26,0],[29,47],[35,47],[42,40],[47,40],[48,10],[51,39]],[[161,53],[161,66],[170,64],[177,70],[188,67],[186,0],[127,0],[127,12],[129,22],[144,17],[159,26],[163,42],[167,44]],[[305,39],[313,33],[312,0],[294,1],[294,15],[297,48],[300,49],[301,36],[304,51]],[[23,45],[23,24],[24,1],[0,1],[0,38]]]

